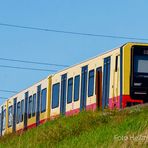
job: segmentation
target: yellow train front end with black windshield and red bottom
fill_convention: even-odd
[[[120,107],[148,102],[148,44],[121,48]]]

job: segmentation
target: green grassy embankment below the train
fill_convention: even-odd
[[[148,105],[81,112],[0,139],[0,147],[148,147]]]

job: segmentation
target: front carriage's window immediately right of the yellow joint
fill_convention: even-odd
[[[60,83],[56,83],[52,87],[52,108],[56,108],[59,106],[59,90]]]

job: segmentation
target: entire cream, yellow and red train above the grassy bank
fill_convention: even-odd
[[[83,110],[122,109],[148,102],[148,44],[129,42],[68,67],[0,106],[0,136]]]

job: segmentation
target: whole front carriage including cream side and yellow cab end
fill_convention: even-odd
[[[51,118],[148,102],[148,44],[127,43],[52,76]]]

